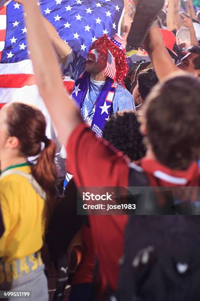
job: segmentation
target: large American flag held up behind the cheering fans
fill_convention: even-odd
[[[85,57],[97,37],[118,32],[124,0],[39,0],[38,5],[60,37]],[[0,102],[38,98],[24,17],[23,6],[14,1],[0,8]]]

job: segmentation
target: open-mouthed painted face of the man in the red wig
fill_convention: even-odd
[[[85,71],[93,74],[99,74],[105,69],[106,64],[107,58],[101,57],[96,49],[92,49],[87,55]]]

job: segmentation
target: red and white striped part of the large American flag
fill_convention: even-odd
[[[6,7],[0,8],[0,59],[5,46]],[[74,81],[66,77],[66,90],[72,93]],[[8,102],[23,102],[40,109],[47,120],[47,136],[52,136],[52,122],[49,112],[39,95],[31,60],[15,63],[0,63],[0,107]]]

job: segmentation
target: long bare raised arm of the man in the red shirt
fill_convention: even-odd
[[[81,122],[79,110],[64,89],[59,64],[36,0],[23,2],[28,47],[39,92],[50,112],[60,142],[66,145],[72,131]]]

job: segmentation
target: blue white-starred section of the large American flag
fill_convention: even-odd
[[[82,56],[97,37],[104,33],[112,36],[118,31],[124,8],[123,0],[39,0],[38,4],[60,37]],[[4,47],[3,43],[0,46],[0,62],[28,59],[23,6],[10,2],[0,24],[0,30],[2,27],[6,31],[1,41]]]

